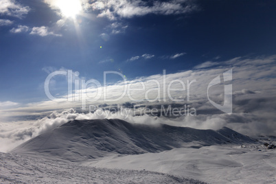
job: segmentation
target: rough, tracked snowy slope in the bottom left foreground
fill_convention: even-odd
[[[158,172],[91,168],[0,152],[0,183],[198,183]]]

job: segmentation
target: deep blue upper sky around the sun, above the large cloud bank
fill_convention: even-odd
[[[71,17],[55,3],[1,0],[0,102],[45,99],[49,69],[133,79],[275,54],[275,1],[79,1]]]

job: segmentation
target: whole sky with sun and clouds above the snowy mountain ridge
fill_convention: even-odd
[[[196,80],[191,83],[189,102],[187,90],[175,90],[174,100],[163,102],[185,99],[196,108],[194,124],[186,126],[231,126],[242,133],[262,130],[276,135],[275,8],[276,1],[255,0],[0,0],[0,122],[22,116],[25,119],[20,120],[34,120],[55,110],[80,108],[82,102],[68,102],[66,75],[51,78],[49,92],[67,102],[49,99],[45,81],[54,71],[71,71],[73,89],[76,80],[96,80],[104,86],[104,72],[113,71],[117,73],[106,76],[109,99],[120,96],[126,83],[141,88],[143,82],[145,89],[152,89],[148,97],[154,104],[166,101],[168,94],[158,97],[154,89],[159,86],[152,80],[162,84],[161,91],[173,80],[178,80],[172,85],[178,89],[183,84],[187,89]],[[230,70],[233,113],[227,116],[210,103],[207,87]],[[85,93],[95,97],[96,89],[100,90],[95,83],[88,84]],[[218,85],[212,90],[213,101],[224,100],[223,89]],[[84,91],[73,90],[76,93]],[[135,100],[128,96],[106,102],[101,96],[86,104],[149,103],[145,91],[132,95]]]

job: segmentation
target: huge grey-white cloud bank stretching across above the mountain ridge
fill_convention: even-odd
[[[71,119],[97,118],[119,118],[131,123],[171,124],[200,129],[217,129],[227,126],[246,135],[276,135],[275,63],[276,55],[255,58],[237,57],[222,61],[220,65],[212,65],[213,67],[167,73],[165,80],[162,74],[157,74],[127,80],[126,83],[121,80],[115,83],[107,83],[105,86],[102,84],[102,87],[105,87],[105,96],[103,96],[102,88],[97,89],[96,87],[74,91],[73,97],[80,95],[87,97],[89,95],[91,99],[87,100],[94,100],[95,96],[101,95],[95,102],[87,101],[87,111],[89,111],[89,105],[101,106],[101,108],[105,108],[106,110],[101,111],[101,109],[97,109],[91,114],[87,113],[87,111],[81,111],[80,108],[76,108],[76,111],[53,112],[53,110],[57,109],[80,107],[82,105],[80,101],[69,102],[66,94],[58,96],[60,100],[65,100],[65,102],[45,100],[20,107],[16,107],[16,104],[14,104],[15,106],[12,109],[1,110],[0,117],[10,117],[10,119],[20,117],[21,119],[28,120],[9,124],[9,127],[16,126],[16,128],[11,127],[10,129],[5,128],[7,124],[1,123],[0,142],[4,142],[5,149],[8,149],[9,146],[22,143],[22,141],[60,126]],[[217,84],[211,87],[208,91],[209,94],[207,94],[207,87],[211,80],[222,76],[222,73],[225,73],[229,69],[233,70],[233,80],[231,80],[231,84],[233,85],[233,113],[231,115],[222,113],[208,100],[209,95],[210,99],[214,102],[222,102],[223,104],[224,84]],[[53,70],[45,69],[48,73]],[[190,83],[192,80],[196,81]],[[56,79],[56,82],[58,85],[58,79]],[[64,83],[64,80],[62,82]],[[160,85],[160,88],[157,83]],[[144,90],[142,84],[144,84]],[[183,84],[185,85],[185,90],[181,91]],[[168,94],[169,85],[170,89],[174,89],[169,90],[172,98]],[[188,85],[189,94],[187,93]],[[128,87],[129,95],[127,93],[127,95],[119,98],[124,89],[128,89]],[[165,95],[163,94],[164,90],[166,92]],[[145,100],[146,96],[148,96],[148,101]],[[187,100],[188,97],[189,100]],[[116,101],[110,102],[108,100]],[[182,101],[176,102],[175,100]],[[12,103],[6,102],[4,104],[7,106],[7,104]],[[117,104],[124,106],[124,109],[117,110],[119,113],[111,113],[113,111],[109,111],[108,108]],[[189,105],[190,108],[196,109],[196,115],[183,115],[171,119],[167,117],[153,117],[146,114],[135,116],[135,113],[144,108],[157,108],[160,110],[161,105],[171,105],[172,107]],[[134,106],[135,108],[133,108]],[[128,116],[126,117],[126,115]],[[32,120],[38,117],[40,117],[40,120]],[[11,144],[11,141],[14,144]],[[1,149],[4,147],[1,147]]]

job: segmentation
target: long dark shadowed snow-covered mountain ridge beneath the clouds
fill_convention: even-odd
[[[12,152],[84,161],[111,154],[161,152],[189,145],[254,143],[227,127],[197,130],[166,124],[130,124],[121,119],[74,120],[34,137]],[[192,144],[191,144],[192,143]]]

